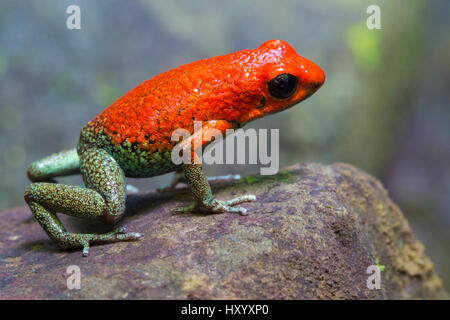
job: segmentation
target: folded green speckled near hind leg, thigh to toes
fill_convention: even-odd
[[[61,248],[83,248],[89,253],[91,244],[135,240],[139,233],[126,233],[118,228],[105,234],[78,234],[65,230],[56,212],[90,219],[117,222],[125,210],[124,175],[116,161],[105,151],[83,149],[80,170],[87,188],[55,183],[33,183],[25,191],[25,201],[47,232]]]

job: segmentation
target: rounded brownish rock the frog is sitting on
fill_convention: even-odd
[[[248,216],[174,214],[185,188],[128,197],[123,224],[145,236],[63,252],[27,207],[0,214],[1,299],[446,298],[433,264],[380,182],[347,164],[300,164],[275,176],[213,182],[254,193]],[[104,230],[60,215],[71,231]],[[69,266],[81,289],[69,290]],[[382,270],[368,289],[367,268]]]

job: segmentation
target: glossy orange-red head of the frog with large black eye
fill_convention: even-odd
[[[243,115],[247,122],[292,107],[310,97],[325,81],[325,73],[281,40],[264,42],[253,50],[259,103]]]

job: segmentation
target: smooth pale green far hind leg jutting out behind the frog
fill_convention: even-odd
[[[80,173],[80,159],[76,149],[54,153],[33,162],[27,175],[31,182],[55,182],[54,177]]]

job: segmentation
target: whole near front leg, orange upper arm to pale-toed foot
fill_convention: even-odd
[[[220,131],[225,134],[227,129],[231,129],[233,125],[226,120],[209,121],[202,126],[202,129],[195,132],[188,139],[183,140],[178,146],[183,152],[191,152],[191,163],[183,164],[182,169],[184,178],[188,183],[192,195],[195,200],[195,205],[181,209],[178,211],[191,211],[192,209],[198,209],[206,213],[239,213],[241,215],[247,214],[247,209],[241,207],[233,207],[234,205],[255,201],[256,196],[245,195],[236,197],[230,200],[217,200],[213,197],[211,186],[208,179],[198,161],[198,157],[195,150],[191,150],[192,143],[195,139],[201,139],[201,147],[205,146],[211,141],[210,137],[214,136],[214,131]]]

